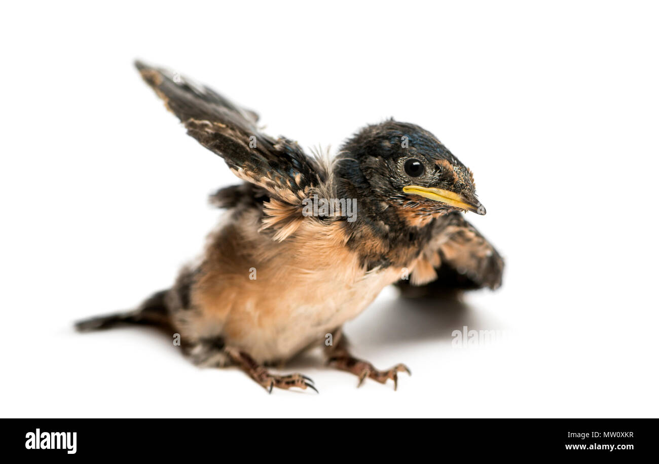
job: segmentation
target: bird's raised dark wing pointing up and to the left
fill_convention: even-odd
[[[258,131],[258,116],[180,74],[137,61],[142,78],[204,147],[220,155],[234,174],[264,188],[276,200],[299,205],[324,179],[316,160],[287,138]]]

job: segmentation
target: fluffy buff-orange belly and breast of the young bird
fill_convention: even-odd
[[[244,219],[243,219],[244,220]],[[305,224],[284,242],[229,224],[210,241],[193,294],[192,336],[221,336],[258,362],[283,361],[321,344],[401,276],[366,272],[340,230]]]

